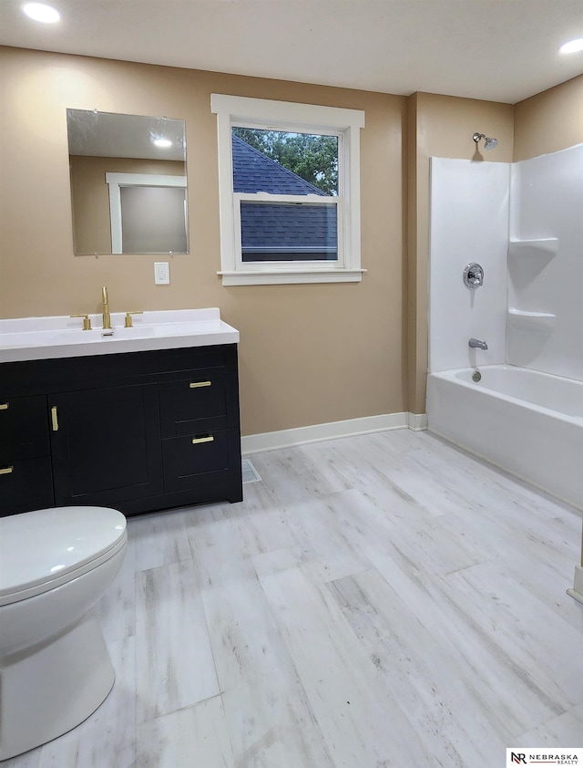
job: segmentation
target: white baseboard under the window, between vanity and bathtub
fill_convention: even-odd
[[[260,451],[274,451],[276,448],[292,448],[308,442],[333,440],[351,435],[363,435],[369,432],[386,430],[424,430],[427,426],[425,414],[384,413],[380,416],[366,416],[363,419],[332,421],[328,424],[313,424],[294,430],[263,432],[258,435],[244,435],[241,438],[241,452],[244,456]]]

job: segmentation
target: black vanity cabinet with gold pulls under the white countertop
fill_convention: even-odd
[[[4,363],[0,382],[0,514],[242,499],[235,344]]]

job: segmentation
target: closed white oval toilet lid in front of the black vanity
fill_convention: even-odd
[[[72,571],[103,560],[125,536],[125,516],[107,507],[57,507],[0,518],[0,603],[14,593],[30,595],[34,587],[62,583]]]

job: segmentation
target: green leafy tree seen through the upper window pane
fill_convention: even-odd
[[[233,128],[233,133],[322,192],[338,194],[337,136],[259,128]]]

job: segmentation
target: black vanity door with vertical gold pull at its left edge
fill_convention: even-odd
[[[118,506],[162,491],[156,384],[49,396],[56,504]]]

